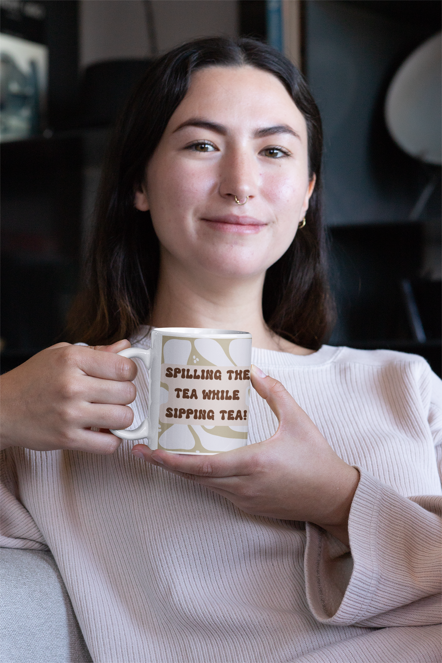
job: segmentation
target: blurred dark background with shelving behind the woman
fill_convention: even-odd
[[[47,119],[39,135],[0,143],[0,371],[62,339],[109,132],[148,60],[204,34],[276,44],[265,0],[38,5],[38,38],[49,50]],[[0,32],[35,38],[35,24],[2,7]],[[284,50],[323,117],[339,313],[330,342],[419,353],[442,375],[442,180],[413,214],[434,169],[402,151],[384,120],[394,74],[442,30],[441,3],[281,0],[280,16]]]

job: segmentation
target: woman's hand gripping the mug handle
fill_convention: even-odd
[[[121,440],[109,428],[131,426],[137,394],[137,366],[117,355],[127,347],[57,343],[0,375],[0,450],[113,453]]]

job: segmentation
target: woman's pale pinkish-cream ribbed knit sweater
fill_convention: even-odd
[[[111,456],[3,452],[0,546],[52,550],[95,663],[440,663],[442,382],[390,351],[252,361],[359,467],[351,550],[245,514],[131,442]],[[136,384],[138,425],[142,368]],[[249,442],[276,426],[254,392]]]

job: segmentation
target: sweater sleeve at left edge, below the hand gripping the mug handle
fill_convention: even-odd
[[[19,496],[11,450],[0,451],[0,548],[48,550],[42,533]]]

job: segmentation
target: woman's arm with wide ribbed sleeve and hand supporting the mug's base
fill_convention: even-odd
[[[252,381],[279,420],[270,440],[203,458],[143,445],[133,453],[245,512],[307,521],[306,592],[319,621],[442,622],[442,497],[412,501],[362,470],[360,477],[278,381],[256,371]]]

